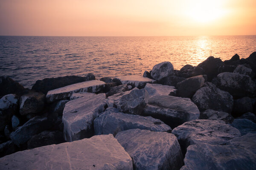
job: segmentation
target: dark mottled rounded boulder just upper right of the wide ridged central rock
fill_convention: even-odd
[[[199,111],[212,109],[231,113],[233,108],[233,97],[210,82],[205,82],[204,87],[195,92],[192,102],[197,105]]]

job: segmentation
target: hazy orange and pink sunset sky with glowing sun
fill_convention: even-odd
[[[256,0],[0,0],[0,35],[255,35]]]

